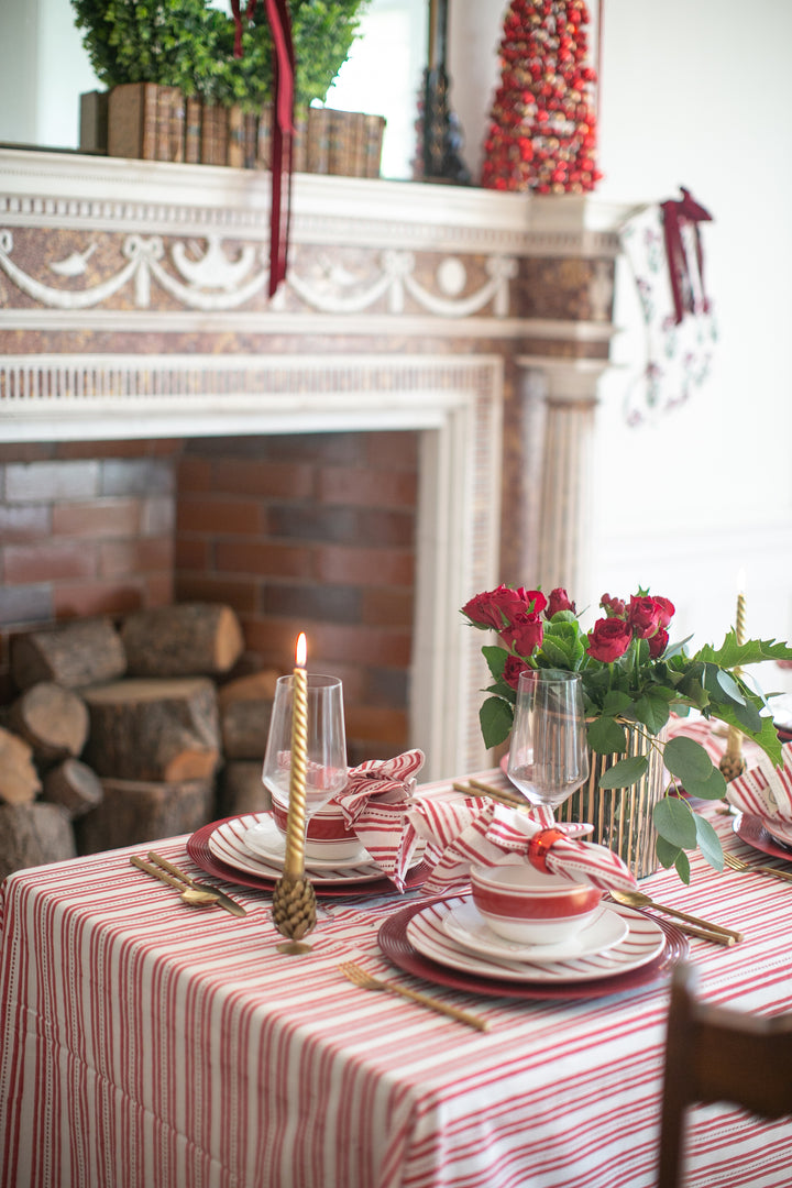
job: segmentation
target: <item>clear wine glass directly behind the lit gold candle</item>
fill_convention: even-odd
[[[292,676],[281,676],[270,719],[261,779],[273,798],[289,804],[292,738]],[[309,672],[306,676],[308,746],[305,819],[331,801],[347,783],[347,735],[341,680]]]

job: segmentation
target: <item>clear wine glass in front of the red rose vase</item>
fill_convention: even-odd
[[[589,775],[583,691],[576,672],[520,674],[508,777],[532,804],[556,808]]]

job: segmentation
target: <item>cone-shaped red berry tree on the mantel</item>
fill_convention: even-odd
[[[583,194],[596,170],[596,72],[587,64],[584,0],[512,0],[501,81],[484,141],[482,185]]]

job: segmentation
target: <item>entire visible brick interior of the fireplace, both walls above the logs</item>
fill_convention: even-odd
[[[240,670],[344,682],[349,759],[407,742],[416,432],[0,446],[0,701],[14,632],[227,602]]]

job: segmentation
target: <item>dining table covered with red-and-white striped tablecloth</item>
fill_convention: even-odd
[[[496,783],[500,773],[474,773]],[[465,777],[467,778],[467,775]],[[452,798],[454,781],[418,796]],[[308,952],[284,952],[272,889],[217,858],[223,823],[11,874],[0,895],[2,1188],[650,1188],[673,965],[711,1004],[792,1011],[792,849],[704,809],[748,872],[691,854],[653,899],[742,934],[712,943],[659,910],[661,955],[613,975],[511,980],[432,960],[420,877],[317,890]],[[235,828],[246,817],[232,819]],[[148,849],[246,909],[184,903]],[[464,904],[460,893],[455,902]],[[677,922],[678,923],[678,922]],[[632,927],[632,924],[631,924]],[[342,975],[348,961],[479,1026]],[[538,980],[537,980],[538,979]],[[486,1030],[484,1030],[486,1029]],[[792,1183],[792,1123],[690,1112],[688,1186]]]

